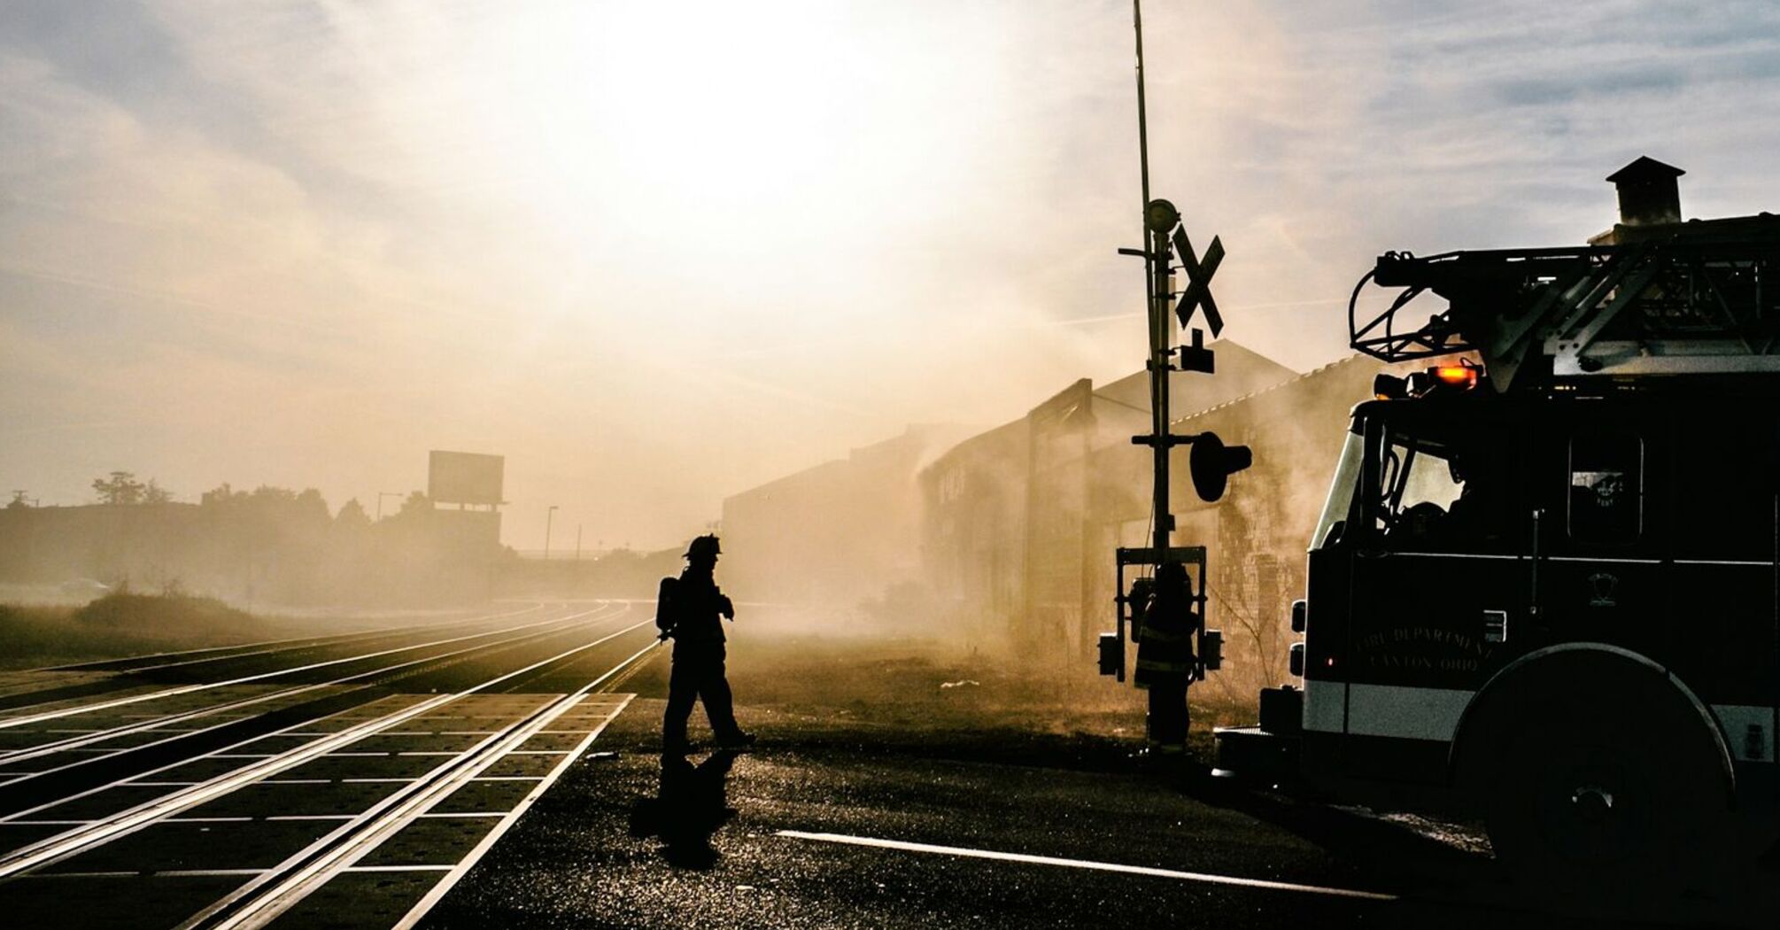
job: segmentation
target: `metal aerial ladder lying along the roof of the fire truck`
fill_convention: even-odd
[[[1349,344],[1383,362],[1476,351],[1499,390],[1545,376],[1780,372],[1780,217],[1554,249],[1390,251],[1347,301]],[[1367,283],[1399,289],[1369,317]],[[1447,306],[1408,312],[1433,292]]]

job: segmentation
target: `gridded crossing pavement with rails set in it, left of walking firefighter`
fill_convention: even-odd
[[[0,884],[0,914],[16,926],[171,926],[251,898],[265,901],[251,919],[215,925],[399,926],[456,884],[630,695],[447,698],[392,695],[4,821],[5,848],[53,843],[244,763],[276,770],[107,843],[71,843]],[[324,846],[326,861],[310,862]]]

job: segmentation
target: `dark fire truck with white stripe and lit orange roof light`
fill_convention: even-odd
[[[1351,346],[1397,374],[1308,540],[1298,681],[1216,732],[1219,773],[1470,811],[1547,884],[1773,844],[1780,217],[1682,221],[1680,173],[1609,176],[1584,246],[1360,281]]]

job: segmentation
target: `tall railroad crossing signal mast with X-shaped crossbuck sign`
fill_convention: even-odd
[[[1193,488],[1207,501],[1223,497],[1230,474],[1248,469],[1253,454],[1246,445],[1225,445],[1216,433],[1169,433],[1169,374],[1216,372],[1216,351],[1205,346],[1205,330],[1212,339],[1223,331],[1223,314],[1210,292],[1212,274],[1223,264],[1223,241],[1212,237],[1205,255],[1198,255],[1187,237],[1180,210],[1168,200],[1150,198],[1150,125],[1145,109],[1143,82],[1143,7],[1132,0],[1132,29],[1137,37],[1137,157],[1143,176],[1143,233],[1145,248],[1118,249],[1120,255],[1139,257],[1145,262],[1145,296],[1150,324],[1150,355],[1145,367],[1150,372],[1150,433],[1132,436],[1132,444],[1148,445],[1153,456],[1152,545],[1116,552],[1118,567],[1118,632],[1100,636],[1100,673],[1125,681],[1127,625],[1139,622],[1148,597],[1150,577],[1168,561],[1178,561],[1193,572],[1193,609],[1205,615],[1205,547],[1173,545],[1175,515],[1169,504],[1169,458],[1175,445],[1191,445],[1189,474]],[[1177,265],[1178,258],[1178,265]],[[1175,271],[1182,271],[1187,287],[1175,292]],[[1178,301],[1175,299],[1178,298]],[[1203,317],[1203,328],[1194,324]],[[1191,331],[1191,344],[1175,344],[1175,319]],[[1136,577],[1127,583],[1127,570]],[[1221,657],[1221,634],[1200,627],[1196,677],[1216,670]]]

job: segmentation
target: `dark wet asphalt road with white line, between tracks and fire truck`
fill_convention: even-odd
[[[634,702],[420,926],[1607,926],[1515,905],[1488,852],[1438,825],[1061,739],[755,711],[760,748],[666,770],[664,800],[660,709]]]

